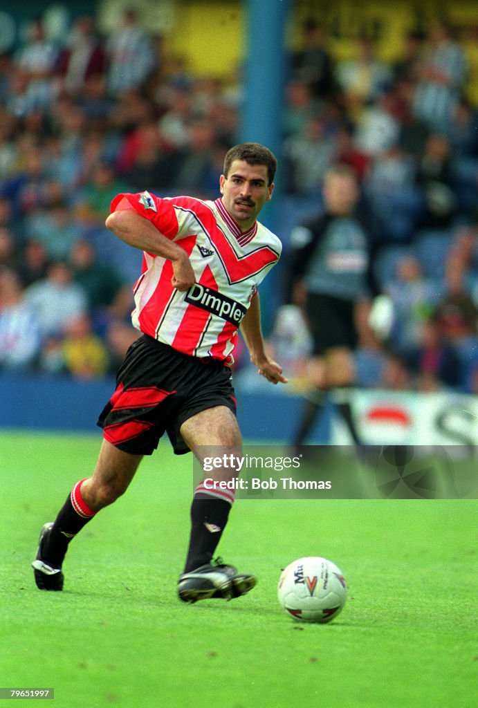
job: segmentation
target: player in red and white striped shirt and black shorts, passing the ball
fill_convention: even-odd
[[[152,455],[164,433],[176,455],[191,450],[202,464],[211,445],[241,455],[229,368],[239,326],[258,372],[273,384],[287,382],[264,350],[258,297],[258,285],[281,251],[277,236],[257,221],[272,197],[275,169],[270,150],[244,143],[227,153],[222,196],[214,202],[161,199],[146,191],[113,200],[107,227],[143,251],[132,313],[142,335],[127,351],[99,417],[103,443],[93,475],[74,486],[55,523],[42,527],[33,561],[40,590],[62,590],[69,542],[126,491],[143,455]],[[236,474],[228,467],[207,476],[229,481]],[[234,489],[211,486],[200,483],[193,496],[178,581],[185,602],[239,597],[256,584],[253,575],[212,561]]]

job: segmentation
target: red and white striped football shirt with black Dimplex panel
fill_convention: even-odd
[[[144,252],[142,275],[133,287],[133,325],[183,353],[231,363],[241,319],[279,260],[278,237],[258,222],[241,232],[220,199],[120,194],[111,211],[121,209],[123,200],[178,242],[196,276],[193,287],[179,292],[171,284],[171,261]]]

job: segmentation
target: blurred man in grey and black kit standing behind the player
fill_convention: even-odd
[[[370,232],[358,210],[360,190],[351,167],[331,167],[322,193],[324,211],[291,234],[292,299],[304,307],[312,335],[308,374],[314,386],[295,432],[296,447],[307,441],[332,389],[351,439],[361,444],[345,389],[355,379],[360,328],[371,333]]]

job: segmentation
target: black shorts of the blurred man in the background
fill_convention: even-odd
[[[309,292],[305,307],[314,356],[321,356],[334,347],[355,349],[358,337],[355,304],[351,300]]]

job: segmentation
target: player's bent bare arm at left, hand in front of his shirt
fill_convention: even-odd
[[[106,227],[125,244],[135,249],[167,258],[173,264],[173,287],[181,292],[188,290],[196,282],[194,270],[186,251],[176,244],[149,221],[133,209],[122,209],[110,214]]]

